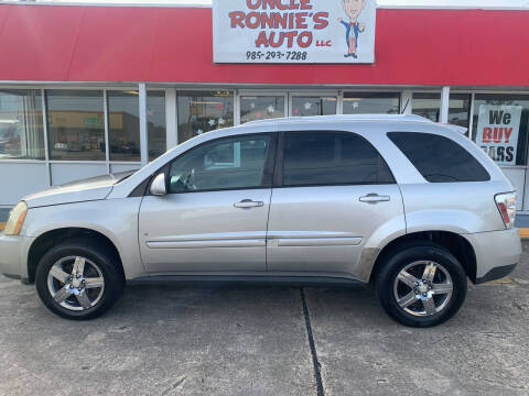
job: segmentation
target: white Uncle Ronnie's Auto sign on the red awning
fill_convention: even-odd
[[[376,0],[214,0],[215,63],[375,62]]]

